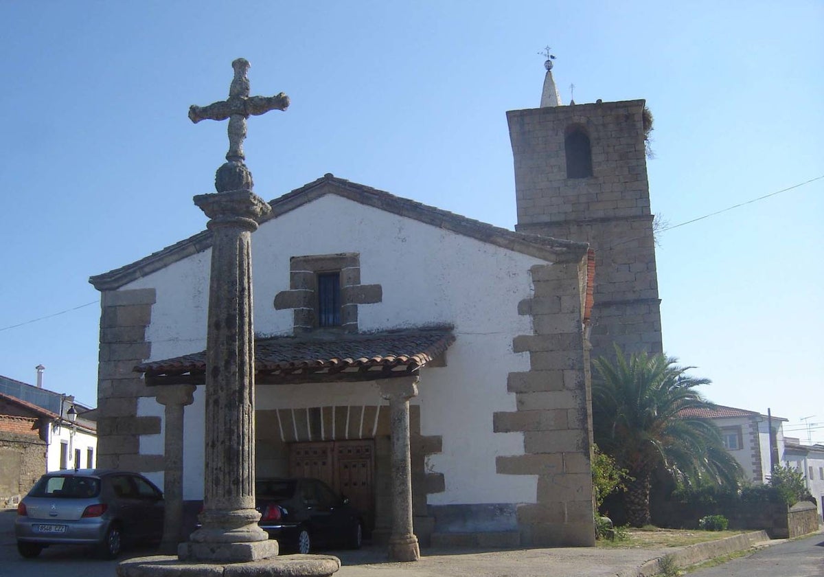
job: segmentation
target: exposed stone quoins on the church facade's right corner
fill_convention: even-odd
[[[517,508],[524,546],[595,544],[581,267],[585,261],[531,268],[535,296],[519,312],[531,315],[535,334],[513,340],[515,352],[529,353],[530,370],[508,376],[517,411],[494,414],[495,432],[524,435],[524,454],[498,457],[498,472],[538,476],[536,503]]]

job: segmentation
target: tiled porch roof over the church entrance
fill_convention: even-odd
[[[255,339],[255,382],[372,381],[414,374],[455,342],[452,327],[374,333],[316,331]],[[148,385],[203,384],[206,351],[139,364]]]

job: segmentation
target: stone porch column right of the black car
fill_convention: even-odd
[[[418,561],[418,537],[412,528],[412,465],[410,459],[410,398],[418,395],[415,377],[377,381],[381,396],[389,401],[392,444],[392,532],[391,561]]]

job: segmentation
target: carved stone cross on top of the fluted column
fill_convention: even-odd
[[[243,162],[246,158],[243,154],[243,140],[246,138],[246,119],[250,115],[262,115],[269,110],[286,110],[289,106],[289,97],[283,92],[275,96],[249,96],[249,78],[246,77],[249,67],[250,63],[246,59],[239,58],[232,62],[235,77],[225,101],[189,107],[189,118],[194,123],[200,120],[229,119],[228,162]]]

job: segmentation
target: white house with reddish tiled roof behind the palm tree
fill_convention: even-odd
[[[681,416],[711,420],[721,429],[723,444],[735,460],[741,464],[744,476],[751,483],[770,480],[770,462],[784,462],[784,429],[786,419],[762,415],[754,410],[736,409],[716,405],[714,409],[682,410]],[[770,420],[772,421],[773,448],[770,461]]]

